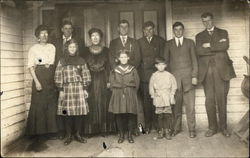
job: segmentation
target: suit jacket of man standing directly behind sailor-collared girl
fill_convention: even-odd
[[[129,64],[138,68],[141,61],[140,50],[138,42],[128,37],[125,46],[123,46],[120,37],[112,40],[109,45],[109,62],[111,69],[114,69],[118,63],[119,51],[121,50],[128,50],[129,51]]]

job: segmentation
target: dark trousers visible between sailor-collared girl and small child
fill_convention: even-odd
[[[158,129],[157,115],[155,114],[155,106],[153,100],[149,95],[148,83],[141,83],[141,95],[143,98],[143,112],[145,120],[145,129],[155,128]]]

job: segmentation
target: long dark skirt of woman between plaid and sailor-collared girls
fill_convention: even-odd
[[[108,112],[111,91],[107,89],[105,73],[91,72],[89,90],[89,113],[84,118],[84,134],[109,133],[116,131],[115,119]]]

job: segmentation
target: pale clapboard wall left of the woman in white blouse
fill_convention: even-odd
[[[26,108],[22,11],[0,8],[2,152],[24,133]]]

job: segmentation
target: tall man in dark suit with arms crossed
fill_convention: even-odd
[[[213,15],[204,13],[201,15],[206,29],[196,35],[196,49],[199,65],[199,82],[204,87],[206,96],[206,111],[209,130],[206,137],[214,135],[218,131],[216,104],[219,113],[219,125],[222,134],[230,136],[227,131],[227,94],[230,79],[236,77],[232,60],[227,50],[229,48],[228,33],[213,24]]]

